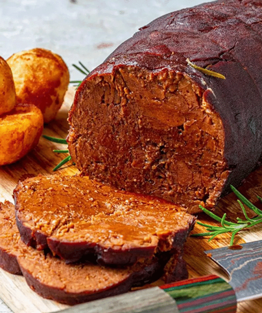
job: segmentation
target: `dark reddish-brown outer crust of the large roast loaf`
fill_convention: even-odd
[[[114,77],[117,71],[128,67],[146,69],[152,75],[164,71],[183,74],[199,86],[202,98],[220,116],[223,124],[224,181],[218,181],[214,186],[213,198],[207,203],[212,207],[229,184],[238,185],[254,169],[261,156],[261,25],[260,1],[219,0],[166,14],[142,27],[94,69],[76,92],[69,112],[67,140],[77,167],[85,175],[118,186],[117,179],[106,176],[110,164],[105,162],[103,175],[102,167],[96,171],[99,164],[91,169],[88,162],[92,161],[84,163],[83,147],[79,149],[78,140],[85,136],[79,132],[84,128],[79,123],[87,110],[85,93],[91,83],[98,84],[106,75]],[[187,58],[201,67],[209,66],[209,69],[224,74],[226,80],[193,69],[187,64]],[[86,129],[88,131],[88,125]],[[94,156],[93,163],[96,161]],[[217,174],[222,172],[218,170]],[[119,176],[125,174],[128,175],[122,172]],[[129,186],[123,188],[130,190]],[[152,190],[141,187],[135,192],[150,193]],[[193,208],[191,212],[197,210]]]

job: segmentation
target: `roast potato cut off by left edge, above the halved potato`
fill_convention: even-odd
[[[16,105],[15,85],[12,71],[0,57],[0,115],[11,111]]]

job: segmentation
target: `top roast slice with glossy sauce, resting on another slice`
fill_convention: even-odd
[[[14,190],[23,242],[68,262],[134,264],[183,250],[195,217],[155,197],[115,190],[88,177],[38,176]]]

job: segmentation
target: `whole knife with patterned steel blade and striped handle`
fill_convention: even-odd
[[[262,297],[262,240],[204,251],[230,280],[208,275],[75,305],[59,313],[234,313]]]

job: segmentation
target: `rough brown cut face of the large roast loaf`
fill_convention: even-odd
[[[84,80],[69,113],[67,140],[78,169],[191,213],[199,204],[213,207],[228,172],[223,123],[206,100],[207,87],[165,67],[103,70]]]

